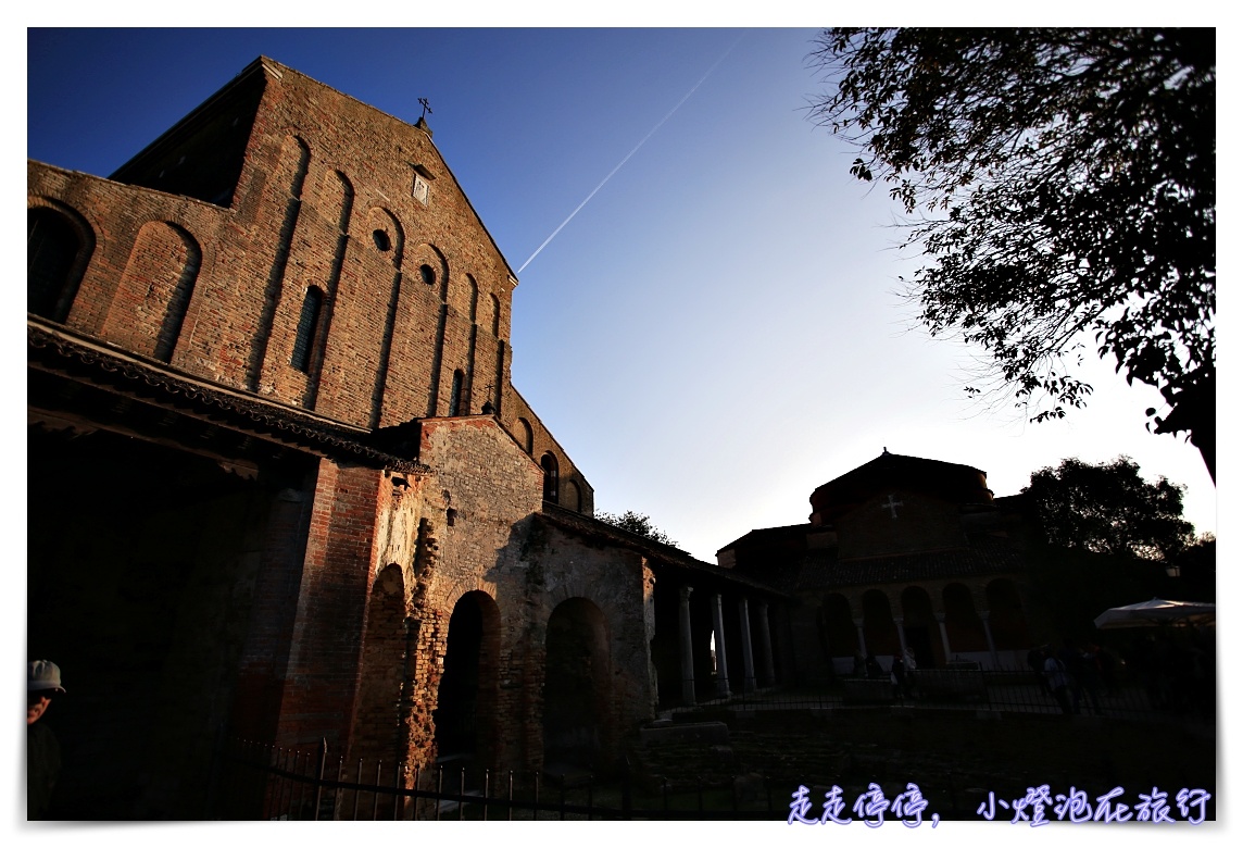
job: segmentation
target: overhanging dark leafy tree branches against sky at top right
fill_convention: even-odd
[[[921,323],[983,346],[1032,420],[1084,405],[1091,344],[1161,390],[1150,428],[1187,431],[1213,474],[1216,32],[839,27],[818,45],[837,90],[812,117],[911,216]]]

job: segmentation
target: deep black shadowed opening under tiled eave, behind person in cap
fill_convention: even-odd
[[[70,693],[42,719],[66,765],[48,816],[201,818],[219,729],[276,732],[288,642],[256,639],[292,628],[296,597],[256,586],[297,586],[311,466],[292,456],[246,480],[102,429],[31,426],[27,449],[26,642]],[[73,479],[107,497],[65,497]]]

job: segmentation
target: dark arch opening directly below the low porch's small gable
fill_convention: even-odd
[[[486,592],[467,592],[449,618],[445,671],[431,714],[439,762],[493,765],[498,654],[496,602]]]

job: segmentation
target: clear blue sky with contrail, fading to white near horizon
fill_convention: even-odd
[[[804,116],[814,30],[31,30],[27,155],[107,175],[270,56],[435,142],[520,274],[513,382],[595,487],[695,556],[799,523],[812,490],[891,453],[1016,494],[1065,456],[1134,458],[1217,530],[1198,451],[1145,431],[1155,392],[1088,372],[1030,425],[962,392],[972,352],[895,296],[896,208]],[[704,80],[705,73],[723,61]],[[700,85],[694,93],[680,101]],[[670,116],[670,111],[675,109]]]

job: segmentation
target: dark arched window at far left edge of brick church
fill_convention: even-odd
[[[40,206],[26,214],[26,311],[65,321],[77,293],[82,240],[60,213]]]

